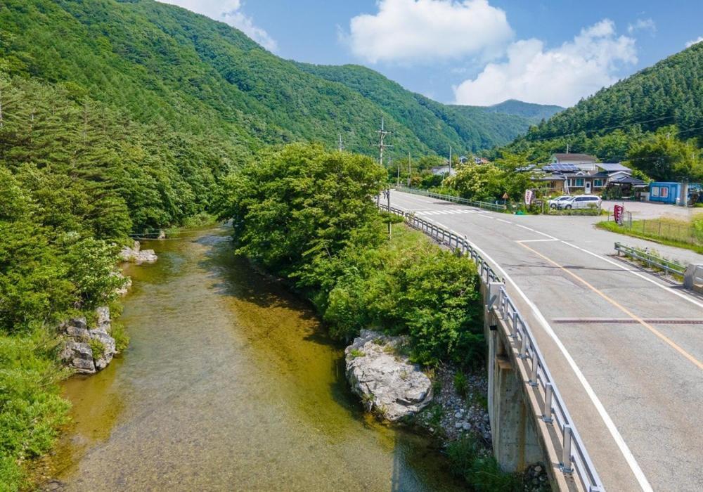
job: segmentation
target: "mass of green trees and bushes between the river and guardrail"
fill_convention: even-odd
[[[220,214],[237,252],[292,280],[335,337],[370,327],[409,335],[420,363],[477,361],[475,267],[404,226],[389,240],[374,202],[384,179],[369,157],[288,145],[226,180]]]

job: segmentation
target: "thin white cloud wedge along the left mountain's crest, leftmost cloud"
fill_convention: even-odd
[[[189,11],[202,13],[207,17],[236,27],[248,37],[257,41],[270,51],[276,51],[278,45],[269,33],[254,24],[254,19],[242,11],[242,0],[159,0],[164,4],[174,4]]]

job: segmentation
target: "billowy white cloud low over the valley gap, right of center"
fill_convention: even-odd
[[[542,41],[517,41],[508,60],[489,63],[475,79],[454,87],[458,104],[490,105],[506,99],[570,106],[617,81],[621,65],[637,63],[635,40],[617,37],[611,20],[602,20],[557,48]]]

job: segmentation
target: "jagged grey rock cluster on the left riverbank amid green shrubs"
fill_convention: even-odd
[[[73,318],[60,325],[65,343],[60,359],[79,374],[95,374],[112,361],[117,353],[115,339],[110,336],[110,309],[107,306],[96,309],[97,321],[93,328],[88,327],[86,318]]]

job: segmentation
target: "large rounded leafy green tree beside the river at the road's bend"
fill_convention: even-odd
[[[226,179],[219,214],[233,219],[240,253],[299,274],[378,221],[373,197],[385,179],[370,157],[292,144],[260,153]]]

